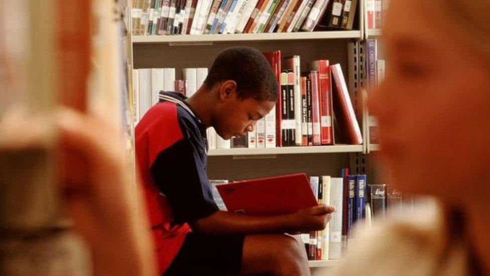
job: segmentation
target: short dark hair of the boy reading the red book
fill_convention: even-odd
[[[240,100],[277,100],[279,87],[276,75],[266,57],[255,48],[231,47],[218,54],[204,83],[211,88],[225,80],[236,81]]]

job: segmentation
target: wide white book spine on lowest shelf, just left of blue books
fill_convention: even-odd
[[[329,222],[330,233],[328,242],[328,259],[340,259],[342,255],[342,204],[343,204],[343,179],[332,177],[330,179],[330,205],[337,212],[332,214]]]

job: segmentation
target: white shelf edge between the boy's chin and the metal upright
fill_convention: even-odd
[[[208,156],[362,152],[362,145],[210,149]]]

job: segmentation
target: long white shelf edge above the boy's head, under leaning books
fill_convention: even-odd
[[[323,31],[266,34],[216,34],[216,35],[170,35],[133,36],[133,44],[144,43],[203,43],[229,41],[272,41],[361,38],[360,31]]]

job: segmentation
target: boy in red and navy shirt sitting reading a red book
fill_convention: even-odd
[[[224,139],[252,131],[277,100],[278,83],[256,49],[229,48],[189,99],[160,92],[136,127],[137,161],[166,275],[308,275],[304,246],[282,233],[320,230],[333,210],[283,216],[219,211],[206,175],[206,128]]]

